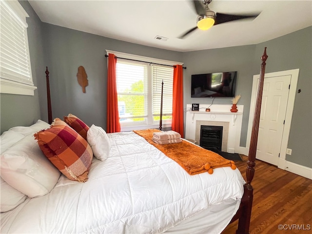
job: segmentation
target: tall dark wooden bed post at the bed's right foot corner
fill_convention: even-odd
[[[264,53],[261,57],[261,70],[260,70],[260,80],[258,86],[257,99],[254,110],[254,122],[251,135],[251,143],[249,147],[247,169],[246,169],[246,179],[247,183],[244,184],[244,195],[241,200],[241,211],[239,212],[238,228],[236,234],[249,234],[250,219],[252,214],[253,198],[254,198],[254,189],[251,185],[251,182],[254,178],[254,166],[255,166],[255,156],[257,151],[257,140],[258,140],[258,131],[259,131],[259,121],[260,121],[260,110],[261,110],[261,101],[262,101],[262,90],[265,74],[265,65],[267,60],[267,47],[264,48]],[[234,221],[234,220],[233,220]]]

